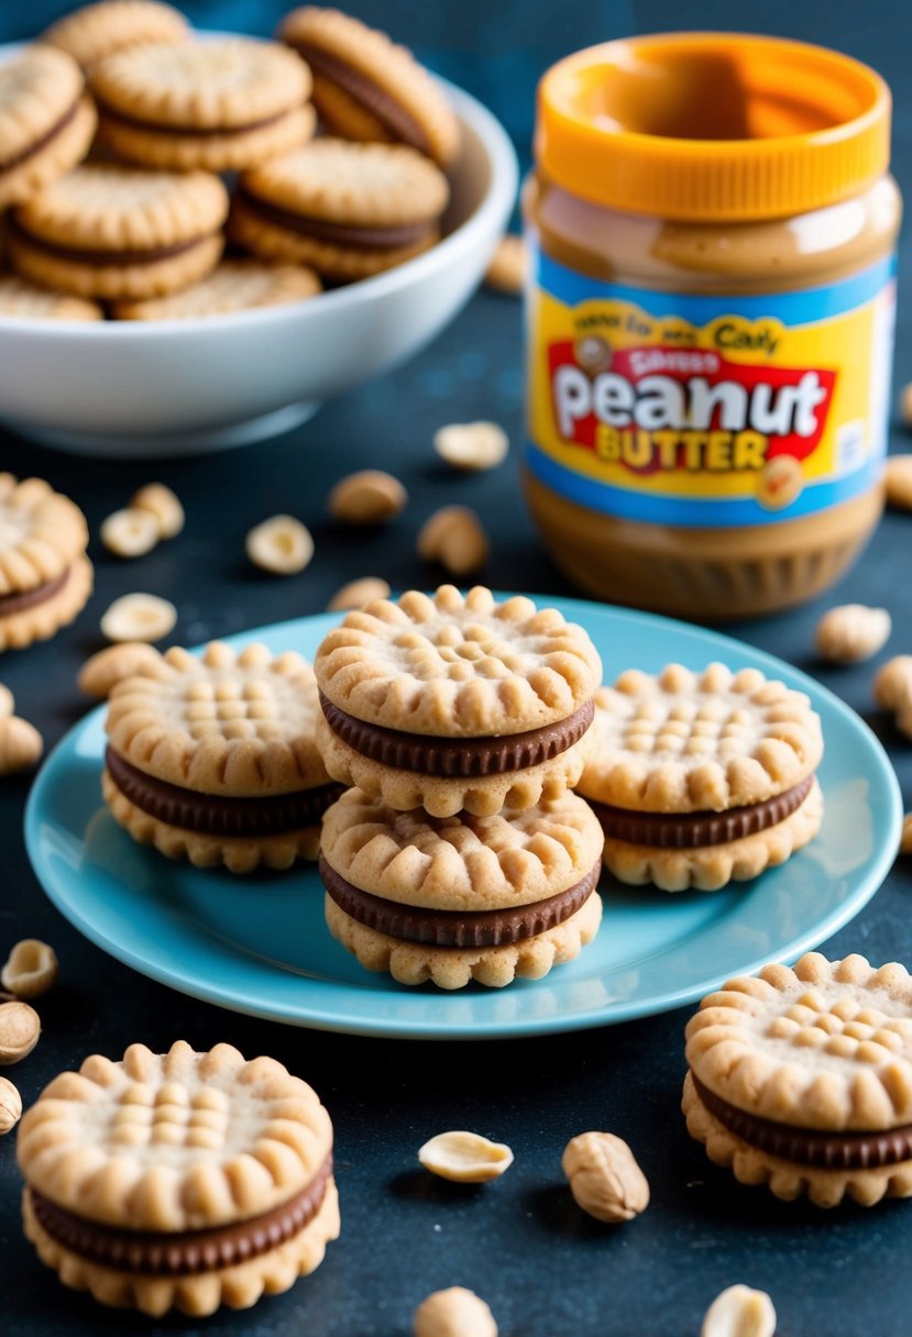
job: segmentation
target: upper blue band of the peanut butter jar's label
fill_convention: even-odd
[[[567,269],[542,251],[538,251],[539,286],[566,302],[579,306],[599,298],[631,302],[657,320],[682,318],[693,325],[707,325],[719,316],[742,316],[746,320],[764,320],[774,314],[782,325],[813,325],[833,316],[842,316],[864,306],[877,297],[885,283],[896,273],[896,257],[877,261],[869,269],[844,278],[838,283],[825,283],[821,287],[805,287],[798,293],[761,294],[754,297],[701,297],[695,294],[655,291],[651,287],[627,287],[622,283],[603,283],[576,270]]]

